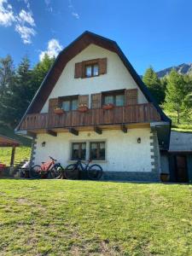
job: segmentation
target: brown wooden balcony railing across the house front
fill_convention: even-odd
[[[117,125],[160,121],[160,114],[151,103],[116,107],[109,110],[89,109],[86,113],[78,110],[61,115],[55,113],[27,114],[20,130],[71,128],[91,125]]]

